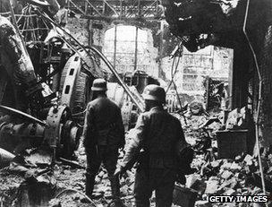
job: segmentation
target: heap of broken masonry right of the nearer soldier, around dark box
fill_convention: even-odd
[[[220,195],[256,195],[261,194],[261,180],[259,174],[258,158],[249,154],[242,153],[234,160],[217,159],[217,141],[215,131],[220,124],[209,125],[209,136],[211,140],[208,148],[202,145],[199,149],[200,140],[203,139],[203,130],[199,127],[200,123],[206,122],[207,116],[191,116],[188,118],[188,125],[183,127],[187,142],[190,142],[194,151],[195,158],[191,163],[196,172],[186,176],[186,187],[198,192],[195,206],[250,206],[250,203],[208,203],[207,196],[211,194]],[[207,155],[209,154],[209,158]],[[264,174],[266,178],[267,191],[270,192],[272,183],[272,156],[263,157]],[[251,203],[252,205],[252,203]]]

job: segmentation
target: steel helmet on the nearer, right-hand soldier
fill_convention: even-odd
[[[143,91],[143,99],[157,100],[162,103],[166,103],[166,91],[155,84],[150,84],[146,86]]]

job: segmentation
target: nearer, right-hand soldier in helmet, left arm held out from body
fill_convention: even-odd
[[[156,191],[156,206],[172,205],[174,182],[177,178],[177,147],[185,145],[180,121],[163,108],[166,92],[157,85],[148,85],[143,97],[146,112],[137,120],[130,134],[129,144],[123,163],[115,171],[120,177],[138,160],[135,176],[134,195],[137,207],[148,207],[153,190]]]

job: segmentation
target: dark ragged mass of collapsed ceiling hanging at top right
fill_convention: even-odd
[[[163,0],[171,32],[191,52],[208,45],[233,47],[242,33],[248,0]],[[250,0],[247,30],[271,22],[270,0]]]

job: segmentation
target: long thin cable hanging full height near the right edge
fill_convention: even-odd
[[[264,179],[264,173],[263,173],[263,168],[261,164],[261,158],[260,158],[260,152],[259,152],[259,110],[260,110],[260,101],[261,101],[261,91],[262,91],[262,78],[261,74],[259,71],[259,63],[258,59],[256,56],[256,53],[254,51],[254,48],[251,44],[251,39],[249,38],[247,32],[246,32],[246,24],[248,20],[248,14],[249,14],[249,7],[250,7],[250,0],[247,0],[247,5],[246,5],[246,10],[244,14],[244,21],[243,21],[243,27],[242,31],[244,33],[245,38],[247,39],[248,45],[251,48],[251,53],[254,58],[254,63],[256,66],[256,70],[258,73],[258,78],[259,78],[259,94],[258,94],[258,106],[257,106],[257,115],[256,115],[256,120],[255,120],[255,136],[256,136],[256,148],[257,148],[257,153],[258,153],[258,160],[259,160],[259,172],[260,172],[260,177],[261,177],[261,185],[262,185],[262,191],[263,194],[266,194],[266,185],[265,185],[265,179]]]

